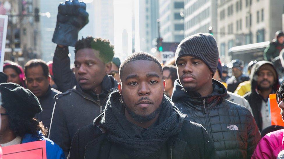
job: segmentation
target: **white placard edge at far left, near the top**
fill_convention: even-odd
[[[8,15],[0,15],[0,72],[3,72]]]

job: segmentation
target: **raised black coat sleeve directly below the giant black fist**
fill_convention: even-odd
[[[77,84],[75,75],[70,69],[70,58],[68,54],[68,46],[57,46],[53,56],[52,71],[54,82],[61,92],[66,92]]]

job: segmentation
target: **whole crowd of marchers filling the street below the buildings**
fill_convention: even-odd
[[[203,33],[182,40],[165,65],[146,52],[120,61],[107,39],[77,41],[85,3],[58,10],[53,60],[5,61],[0,72],[1,147],[45,140],[48,159],[284,158],[284,127],[271,125],[269,110],[275,93],[284,120],[283,68],[274,65],[283,32],[246,75],[241,60],[223,65]]]

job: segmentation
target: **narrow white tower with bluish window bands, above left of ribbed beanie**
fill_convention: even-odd
[[[184,39],[184,1],[159,0],[160,34],[164,42]]]

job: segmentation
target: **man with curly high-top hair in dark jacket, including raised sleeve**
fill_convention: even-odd
[[[111,69],[113,55],[113,45],[108,40],[91,36],[82,38],[75,45],[73,74],[68,47],[56,47],[56,60],[53,61],[56,85],[66,90],[76,83],[72,89],[55,97],[50,124],[49,138],[63,149],[66,156],[76,131],[102,113],[107,94],[117,88],[117,81],[106,74]]]

